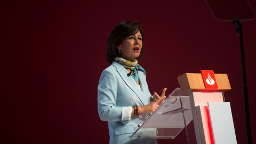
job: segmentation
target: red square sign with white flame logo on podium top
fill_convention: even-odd
[[[213,70],[201,70],[205,89],[218,89]]]

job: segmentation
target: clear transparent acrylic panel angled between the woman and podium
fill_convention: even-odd
[[[176,88],[130,139],[174,139],[192,119],[188,91]]]

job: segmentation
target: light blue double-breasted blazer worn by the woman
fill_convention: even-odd
[[[103,70],[98,86],[98,112],[102,121],[108,121],[110,142],[125,143],[129,135],[138,129],[148,114],[132,117],[122,121],[122,107],[143,106],[150,103],[151,94],[146,82],[146,74],[139,71],[140,87],[128,71],[118,62]],[[135,99],[134,97],[135,96]],[[156,143],[156,140],[154,140]],[[140,142],[141,143],[141,142]],[[143,142],[142,142],[143,143]]]

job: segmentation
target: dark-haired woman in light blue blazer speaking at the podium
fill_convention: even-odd
[[[166,98],[151,94],[146,82],[146,71],[139,66],[144,47],[140,23],[119,23],[107,38],[106,68],[98,86],[98,111],[102,121],[108,121],[109,143],[157,143],[154,139],[130,140],[138,129]],[[151,103],[150,103],[151,102]]]

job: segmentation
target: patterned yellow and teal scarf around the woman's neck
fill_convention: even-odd
[[[135,82],[139,81],[139,75],[138,75],[138,71],[143,71],[144,73],[146,73],[146,71],[140,66],[138,65],[138,60],[134,59],[134,61],[130,61],[130,60],[125,60],[123,58],[115,58],[115,61],[117,61],[118,63],[120,63],[122,66],[124,66],[125,68],[129,68],[133,71],[133,75],[132,78],[135,80]]]

